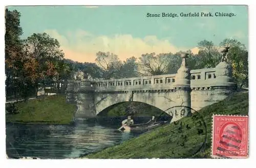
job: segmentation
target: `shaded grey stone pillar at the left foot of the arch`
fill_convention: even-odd
[[[90,80],[83,79],[79,82],[76,119],[96,117],[94,91]]]

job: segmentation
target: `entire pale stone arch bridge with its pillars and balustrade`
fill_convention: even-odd
[[[226,52],[223,52],[225,57]],[[188,106],[199,110],[226,98],[237,87],[232,82],[231,66],[223,60],[216,68],[190,70],[187,54],[176,74],[98,81],[68,82],[67,102],[77,104],[76,118],[96,117],[117,103],[136,101],[155,106],[173,116],[172,122],[187,116]]]

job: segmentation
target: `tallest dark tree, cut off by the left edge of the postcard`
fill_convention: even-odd
[[[20,91],[23,85],[17,79],[22,78],[24,54],[20,36],[23,34],[19,22],[20,13],[16,10],[5,10],[5,72],[6,72],[6,94],[13,95]]]

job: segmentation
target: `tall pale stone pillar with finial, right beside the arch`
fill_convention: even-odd
[[[175,90],[178,95],[176,101],[177,105],[188,106],[191,105],[190,100],[190,69],[187,67],[186,59],[188,58],[188,53],[181,54],[182,63],[178,72],[175,76]],[[185,110],[185,112],[184,112]],[[174,115],[172,122],[181,119],[191,113],[189,108],[184,107],[183,113],[181,115]],[[179,110],[181,111],[181,110]]]

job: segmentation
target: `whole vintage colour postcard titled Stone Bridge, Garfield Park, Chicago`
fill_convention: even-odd
[[[9,159],[248,158],[248,6],[7,6]]]

